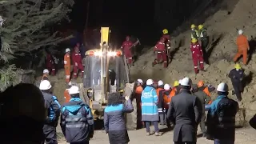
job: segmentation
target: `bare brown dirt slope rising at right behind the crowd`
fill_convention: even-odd
[[[130,69],[132,78],[162,79],[171,85],[175,80],[190,77],[194,83],[198,80],[204,80],[214,86],[218,86],[220,82],[227,82],[232,90],[230,78],[227,74],[234,68],[232,59],[237,51],[235,39],[239,29],[244,33],[250,41],[251,53],[254,52],[256,38],[256,1],[240,0],[234,10],[229,14],[226,10],[219,10],[216,14],[208,18],[204,24],[210,35],[210,45],[208,53],[210,54],[210,66],[206,72],[194,74],[194,66],[190,53],[190,31],[179,34],[178,37],[172,38],[172,47],[174,52],[173,60],[170,66],[164,70],[162,65],[152,68],[151,62],[154,60],[153,49],[151,48],[138,58],[135,66]],[[240,61],[241,62],[241,61]],[[241,62],[242,65],[242,62]],[[251,60],[247,66],[243,66],[245,70],[246,83],[241,107],[246,108],[246,119],[251,118],[256,113],[256,82],[254,76],[256,74],[256,54],[251,55]],[[231,91],[230,91],[231,94]],[[216,94],[214,94],[216,96]],[[236,99],[234,96],[231,98]],[[240,103],[241,104],[241,103]]]

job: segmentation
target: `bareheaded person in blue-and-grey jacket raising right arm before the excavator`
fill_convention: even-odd
[[[112,93],[107,98],[107,106],[104,110],[104,127],[109,135],[110,144],[130,142],[126,129],[126,113],[134,111],[134,106],[128,96],[126,104],[120,100],[118,93]]]

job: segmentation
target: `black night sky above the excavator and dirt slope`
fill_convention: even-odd
[[[70,18],[75,29],[82,31],[88,0],[74,1]],[[222,0],[90,0],[89,27],[110,26],[111,39],[118,43],[128,34],[138,37],[144,45],[153,45],[163,29],[171,33],[210,2],[219,1]]]

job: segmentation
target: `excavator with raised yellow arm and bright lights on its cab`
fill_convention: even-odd
[[[121,96],[131,96],[134,91],[134,83],[130,83],[129,67],[122,50],[114,50],[110,47],[109,27],[101,27],[100,49],[88,50],[85,55],[80,97],[90,106],[94,119],[102,120],[108,95],[118,92]],[[134,101],[134,112],[126,114],[128,130],[137,128],[135,98]]]

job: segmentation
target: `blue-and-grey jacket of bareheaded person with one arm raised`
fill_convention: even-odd
[[[104,110],[104,127],[106,133],[111,130],[126,130],[126,121],[124,113],[131,113],[134,110],[130,99],[126,104],[119,104],[118,106],[106,106]]]

